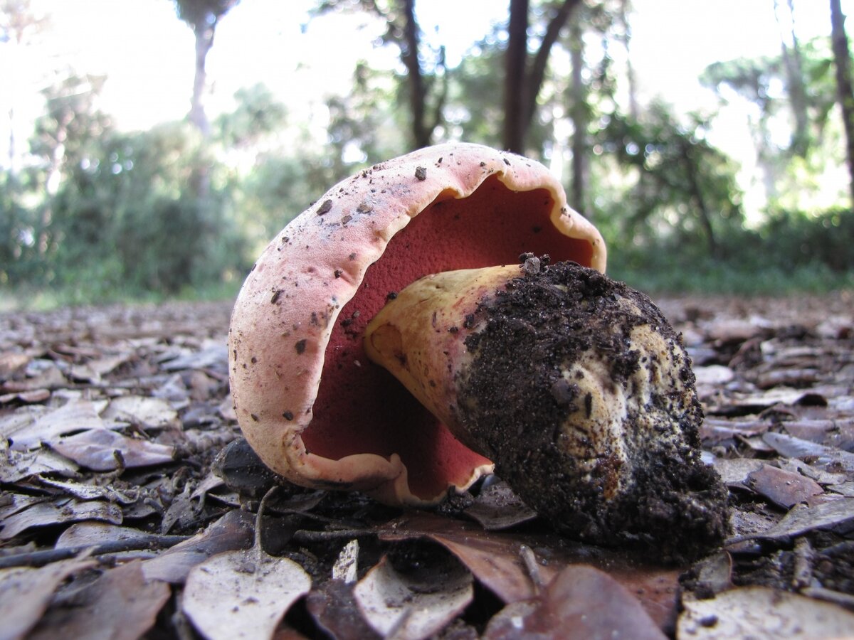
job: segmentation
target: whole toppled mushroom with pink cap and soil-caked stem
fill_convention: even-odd
[[[602,271],[599,232],[533,160],[457,143],[373,166],[243,284],[240,427],[302,486],[426,505],[497,465],[561,531],[715,544],[726,492],[681,340]]]

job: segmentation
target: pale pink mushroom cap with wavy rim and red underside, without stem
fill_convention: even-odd
[[[495,445],[461,430],[440,408],[447,404],[441,395],[430,401],[413,386],[409,393],[386,369],[400,373],[394,362],[375,364],[368,353],[382,358],[366,346],[383,340],[377,332],[365,340],[365,331],[389,300],[390,312],[399,306],[395,297],[410,297],[401,294],[407,286],[440,277],[430,274],[506,265],[497,280],[484,280],[495,290],[506,288],[526,252],[532,255],[525,266],[537,274],[560,271],[558,265],[535,268],[533,255],[546,253],[590,268],[586,273],[605,270],[599,232],[566,206],[559,183],[533,160],[445,144],[338,183],[272,240],[237,298],[231,394],[249,445],[296,484],[360,490],[390,504],[436,503],[448,489],[464,490],[492,472]],[[487,289],[481,294],[489,297]],[[473,329],[463,325],[469,315],[477,321],[482,299],[465,301],[471,311],[454,326]],[[437,318],[441,311],[438,305]],[[666,325],[656,318],[657,326]],[[457,349],[477,335],[461,330],[455,336],[450,326],[439,333],[456,338]],[[395,352],[392,359],[401,358],[409,356]],[[428,376],[426,387],[433,388],[431,380],[438,386]],[[569,398],[572,384],[554,393]],[[696,453],[693,402],[684,424],[667,428],[686,428],[676,439]],[[587,527],[591,535],[594,529]]]

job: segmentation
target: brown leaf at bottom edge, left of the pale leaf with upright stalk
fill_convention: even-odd
[[[81,589],[73,606],[50,608],[28,638],[136,640],[155,624],[171,593],[166,583],[145,579],[140,561],[131,561]]]

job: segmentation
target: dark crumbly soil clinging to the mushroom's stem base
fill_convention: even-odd
[[[483,330],[465,342],[475,356],[460,379],[463,423],[496,472],[572,537],[676,561],[720,544],[727,491],[700,460],[703,416],[680,337],[623,283],[525,258],[524,277],[478,306]]]

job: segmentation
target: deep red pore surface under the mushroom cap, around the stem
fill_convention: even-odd
[[[332,331],[313,420],[301,433],[307,451],[331,459],[397,453],[410,491],[424,499],[444,492],[448,478],[488,463],[368,360],[362,335],[389,294],[430,273],[514,264],[524,252],[590,265],[590,243],[561,234],[549,220],[553,206],[545,189],[513,192],[489,177],[466,198],[440,195],[398,231]]]

